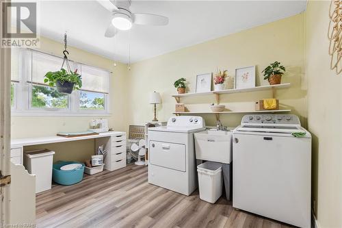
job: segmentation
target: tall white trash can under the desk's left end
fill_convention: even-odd
[[[25,153],[25,168],[30,174],[36,175],[36,193],[51,189],[54,154],[55,151],[48,149]]]

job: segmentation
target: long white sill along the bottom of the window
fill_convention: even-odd
[[[12,111],[11,116],[111,116],[111,113],[106,112],[19,112]]]

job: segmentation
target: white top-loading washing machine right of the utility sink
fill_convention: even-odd
[[[311,227],[311,134],[298,116],[242,118],[233,131],[233,207]]]

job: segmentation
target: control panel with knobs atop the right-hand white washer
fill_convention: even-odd
[[[246,124],[300,125],[300,120],[292,114],[250,114],[241,120],[241,125]]]

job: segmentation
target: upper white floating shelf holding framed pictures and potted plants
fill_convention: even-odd
[[[172,97],[196,97],[196,96],[206,96],[210,94],[230,94],[237,92],[254,92],[254,91],[262,91],[262,90],[270,90],[270,89],[278,89],[278,88],[289,88],[291,84],[278,84],[273,86],[257,86],[253,88],[242,88],[242,89],[229,89],[229,90],[220,90],[220,91],[210,91],[210,92],[189,92],[183,94],[173,94]]]

